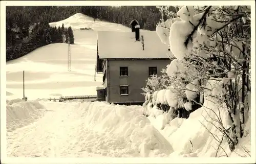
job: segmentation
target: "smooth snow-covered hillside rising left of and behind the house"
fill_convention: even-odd
[[[7,99],[23,97],[23,70],[25,71],[25,96],[58,98],[59,96],[96,95],[96,86],[102,83],[101,74],[94,81],[96,65],[96,31],[131,31],[122,25],[104,22],[77,13],[50,26],[71,26],[75,44],[71,45],[71,67],[68,72],[68,44],[55,43],[35,51],[6,65]],[[91,27],[93,30],[80,30]]]

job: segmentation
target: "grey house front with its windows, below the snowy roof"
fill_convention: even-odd
[[[105,101],[118,104],[142,104],[141,94],[146,80],[152,75],[161,75],[169,59],[119,59],[104,60],[103,86]]]

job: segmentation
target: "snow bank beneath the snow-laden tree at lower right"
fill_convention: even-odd
[[[184,104],[187,110],[190,109],[189,104]],[[218,110],[219,107],[219,110]],[[154,108],[154,107],[153,107]],[[215,157],[216,150],[219,147],[219,143],[210,134],[217,135],[220,139],[223,134],[215,127],[220,126],[217,122],[212,121],[211,118],[217,119],[215,111],[221,116],[223,126],[229,128],[231,126],[231,120],[227,114],[227,108],[224,105],[218,105],[214,99],[207,97],[204,102],[204,106],[190,113],[188,119],[169,119],[166,116],[168,113],[162,112],[156,117],[152,113],[148,116],[151,123],[160,133],[168,140],[173,146],[174,152],[169,157]],[[166,119],[167,118],[167,119]],[[207,122],[208,120],[209,122]],[[213,125],[211,124],[213,123]],[[214,126],[215,125],[215,126]],[[250,151],[250,119],[247,119],[245,124],[245,135],[239,139],[239,144],[234,151],[239,151],[240,154],[246,155],[246,149]],[[210,133],[209,133],[210,132]],[[241,145],[241,146],[240,146]],[[228,156],[238,157],[237,154],[231,153],[228,143],[225,138],[221,144],[222,148],[228,154]],[[222,149],[218,150],[218,156],[225,156],[225,152]],[[241,153],[243,152],[243,153]]]

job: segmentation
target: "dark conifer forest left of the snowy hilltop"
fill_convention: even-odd
[[[76,13],[73,9],[74,7],[7,7],[6,61],[22,57],[40,46],[60,43],[62,34],[70,37],[70,43],[73,44],[71,27],[49,26],[49,22],[65,19]]]

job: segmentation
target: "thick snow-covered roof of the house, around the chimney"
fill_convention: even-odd
[[[155,31],[140,30],[144,38],[136,41],[134,32],[98,31],[99,59],[135,58],[156,59],[168,58],[170,52]]]

